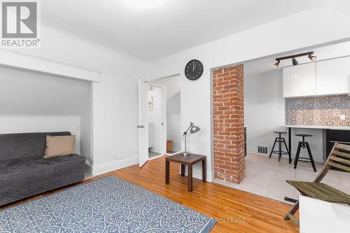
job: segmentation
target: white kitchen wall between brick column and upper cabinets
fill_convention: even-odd
[[[244,65],[253,69],[254,62]],[[246,72],[247,71],[247,72]],[[275,69],[266,73],[244,76],[244,123],[247,136],[247,151],[258,152],[258,146],[272,149],[278,134],[285,131],[286,104],[282,95],[282,70]],[[285,134],[288,145],[288,134]]]

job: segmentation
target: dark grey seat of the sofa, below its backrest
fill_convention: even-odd
[[[0,206],[84,179],[85,157],[25,157],[0,161]]]

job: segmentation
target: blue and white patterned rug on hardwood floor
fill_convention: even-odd
[[[215,221],[115,176],[0,211],[0,233],[201,232]]]

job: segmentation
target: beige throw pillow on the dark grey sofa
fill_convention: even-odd
[[[46,136],[45,158],[74,154],[76,136]]]

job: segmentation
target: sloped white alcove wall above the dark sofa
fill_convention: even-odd
[[[0,68],[0,114],[79,115],[89,83]]]

